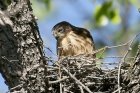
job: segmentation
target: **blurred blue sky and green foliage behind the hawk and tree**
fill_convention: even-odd
[[[30,0],[44,46],[56,54],[56,40],[51,29],[61,21],[83,27],[93,36],[96,49],[121,45],[140,32],[140,0]],[[134,41],[129,57],[136,54],[140,36]],[[123,56],[128,46],[108,49],[103,56]],[[48,49],[46,56],[57,59]],[[101,53],[97,54],[97,57]],[[104,58],[104,62],[118,62],[119,58]],[[112,66],[111,66],[112,67]],[[0,75],[0,93],[8,87]]]

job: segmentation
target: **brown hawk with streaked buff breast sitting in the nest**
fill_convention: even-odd
[[[54,25],[52,34],[57,40],[58,59],[62,56],[86,55],[95,58],[95,44],[90,32],[81,27],[76,27],[67,21],[62,21]],[[90,55],[89,55],[90,54]]]

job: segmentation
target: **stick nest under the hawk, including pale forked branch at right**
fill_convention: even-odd
[[[66,56],[59,61],[49,60],[53,63],[47,66],[49,93],[126,93],[135,84],[130,82],[130,73],[134,65],[131,61],[134,61],[135,57],[127,57],[134,39],[122,45],[106,46],[94,51],[92,54],[101,51],[101,55],[96,59]],[[124,56],[103,57],[106,49],[122,46],[129,46]],[[104,58],[120,58],[120,60],[100,61]],[[110,68],[109,65],[115,66]]]

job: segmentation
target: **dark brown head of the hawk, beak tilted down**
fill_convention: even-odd
[[[66,21],[62,21],[60,23],[57,23],[52,28],[52,34],[53,36],[58,40],[66,36],[68,31],[72,28],[72,25]]]

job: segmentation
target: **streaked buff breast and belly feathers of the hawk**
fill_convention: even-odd
[[[77,36],[74,33],[69,33],[63,38],[59,47],[62,48],[60,56],[87,54],[94,50],[92,40]]]

